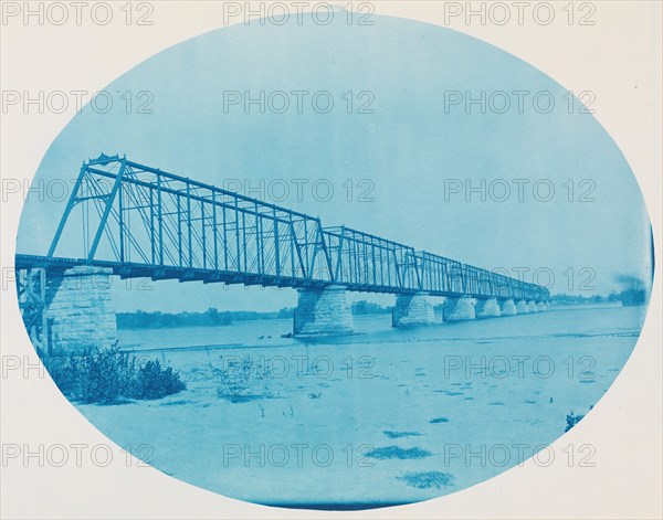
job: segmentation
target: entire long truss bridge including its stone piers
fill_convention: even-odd
[[[394,327],[546,310],[545,287],[128,160],[83,163],[45,255],[17,254],[23,320],[45,350],[113,341],[110,277],[298,289],[296,336],[351,333],[346,293],[396,295]]]

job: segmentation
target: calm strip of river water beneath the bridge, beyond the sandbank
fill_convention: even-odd
[[[391,327],[390,315],[355,317],[356,335],[337,338],[282,338],[292,332],[292,319],[236,321],[222,327],[120,329],[128,350],[196,348],[269,348],[288,344],[371,344],[383,342],[486,340],[508,338],[638,336],[646,308],[611,307],[551,310],[548,312],[440,323],[411,329]]]

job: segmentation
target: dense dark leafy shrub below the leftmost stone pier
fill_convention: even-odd
[[[75,402],[160,399],[187,388],[179,372],[162,369],[156,360],[140,364],[134,354],[122,352],[117,342],[82,354],[46,357],[43,362],[60,391]]]

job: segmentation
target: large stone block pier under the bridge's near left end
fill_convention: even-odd
[[[50,274],[46,319],[52,353],[83,352],[110,347],[117,340],[110,303],[113,269],[76,266]]]

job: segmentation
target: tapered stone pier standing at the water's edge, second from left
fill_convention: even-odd
[[[355,333],[346,288],[299,289],[293,321],[294,336],[345,336]]]

